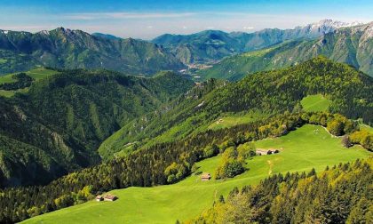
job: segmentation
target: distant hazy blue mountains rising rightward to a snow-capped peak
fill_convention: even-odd
[[[274,44],[298,38],[315,38],[335,31],[337,28],[351,27],[358,23],[321,20],[317,23],[293,29],[266,28],[254,33],[207,30],[192,35],[165,34],[152,42],[162,45],[184,63],[221,60],[235,53],[260,50]]]

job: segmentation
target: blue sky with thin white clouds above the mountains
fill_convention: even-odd
[[[253,32],[322,19],[373,20],[372,0],[0,0],[0,29],[57,27],[149,39],[204,29]]]

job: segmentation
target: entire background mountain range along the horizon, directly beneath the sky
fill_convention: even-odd
[[[367,26],[367,30],[364,31],[363,28]],[[201,76],[236,80],[243,73],[267,68],[281,68],[282,65],[288,66],[294,61],[307,60],[319,54],[346,62],[371,74],[370,28],[371,24],[321,20],[304,27],[266,28],[254,33],[206,30],[184,36],[166,34],[156,37],[151,42],[132,38],[123,39],[100,33],[90,35],[81,30],[68,28],[44,30],[35,34],[0,30],[0,75],[44,66],[106,68],[131,75],[153,76],[159,70],[177,71],[187,68],[189,64],[216,63],[243,52],[255,54],[260,50],[266,50],[268,53],[266,59],[260,59],[263,61],[259,61],[259,65],[256,62],[252,68],[247,68],[253,62],[242,61],[246,63],[245,68],[237,73],[232,69],[221,69],[218,65],[214,67],[215,70],[222,71],[218,76],[210,74],[214,73],[213,70],[207,71],[206,74],[202,72]],[[315,43],[315,38],[318,41],[322,39],[323,44]],[[294,42],[289,43],[291,41]],[[338,51],[338,47],[343,48],[342,52],[334,53]],[[277,60],[272,61],[273,65],[268,65],[270,55],[278,54],[278,52],[273,52],[274,49],[280,52],[285,51],[284,49],[292,52],[286,57],[285,55],[282,58],[278,56]],[[290,60],[285,60],[287,57]],[[241,69],[242,65],[235,66],[235,62],[231,63],[229,60],[235,61],[235,58],[227,59],[222,63],[230,63],[235,69]],[[223,65],[222,67],[229,66]]]

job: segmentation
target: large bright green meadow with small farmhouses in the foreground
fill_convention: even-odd
[[[339,138],[311,124],[281,138],[260,140],[255,144],[257,148],[278,148],[281,152],[255,156],[247,161],[247,172],[233,179],[202,182],[199,176],[192,175],[174,185],[113,190],[111,193],[119,196],[115,202],[91,201],[24,223],[175,223],[200,214],[232,188],[256,184],[270,174],[308,172],[313,167],[321,171],[327,165],[369,156],[360,146],[343,148]],[[216,156],[198,163],[199,171],[210,172],[213,176],[219,160],[220,156]]]

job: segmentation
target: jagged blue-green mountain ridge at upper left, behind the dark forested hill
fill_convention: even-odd
[[[0,74],[23,71],[35,65],[107,68],[143,75],[184,68],[178,59],[156,44],[131,38],[91,36],[68,28],[36,34],[0,30],[0,50]]]

